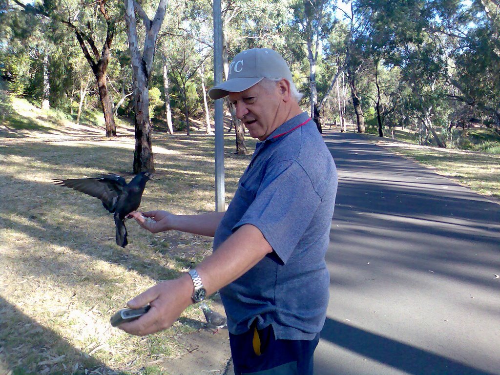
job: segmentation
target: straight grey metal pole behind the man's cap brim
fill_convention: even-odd
[[[222,15],[220,0],[213,0],[213,81],[222,82]],[[215,211],[225,211],[224,123],[222,99],[215,100]]]

